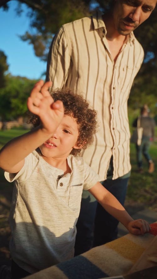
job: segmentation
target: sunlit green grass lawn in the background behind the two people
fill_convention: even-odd
[[[10,139],[17,137],[28,130],[24,129],[11,129],[8,131],[0,131],[0,148],[8,142]],[[157,127],[155,131],[155,138],[157,135]],[[157,169],[157,140],[152,143],[150,147],[150,154]],[[130,144],[130,158],[132,165],[132,173],[128,184],[127,190],[127,202],[138,202],[143,204],[149,209],[157,210],[157,176],[156,171],[153,174],[148,173],[148,164],[143,158],[144,173],[139,174],[136,166],[136,152],[135,145]],[[8,183],[3,174],[3,170],[0,169],[0,196],[2,197],[4,191],[11,193],[12,185]],[[11,195],[11,194],[10,194]]]

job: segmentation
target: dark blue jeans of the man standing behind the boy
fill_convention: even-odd
[[[123,205],[129,177],[116,180],[107,179],[105,186]],[[117,238],[118,221],[95,200],[89,191],[83,191],[81,209],[76,224],[75,256],[92,247],[105,244]]]

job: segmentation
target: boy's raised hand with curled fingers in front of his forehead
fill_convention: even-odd
[[[41,127],[47,133],[53,133],[64,116],[62,101],[54,102],[48,91],[51,86],[51,81],[44,83],[43,80],[40,80],[35,84],[27,100],[28,109],[40,117]]]

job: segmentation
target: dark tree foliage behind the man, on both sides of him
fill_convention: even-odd
[[[11,0],[10,0],[11,1]],[[17,0],[17,13],[23,11],[24,5],[29,7],[28,18],[30,19],[30,29],[21,39],[34,46],[35,55],[42,60],[47,60],[47,54],[53,35],[62,24],[75,19],[88,16],[95,7],[102,12],[106,10],[113,0]],[[7,9],[9,0],[1,0],[0,7]],[[135,78],[129,105],[133,108],[145,103],[146,100],[152,103],[155,110],[156,72],[157,72],[157,9],[155,8],[141,26],[134,31],[135,36],[142,44],[145,58],[144,63]],[[149,96],[149,98],[148,98]]]

